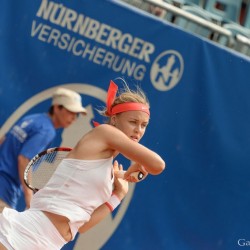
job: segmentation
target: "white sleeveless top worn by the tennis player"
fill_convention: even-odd
[[[113,182],[113,157],[64,159],[47,185],[33,196],[30,208],[67,217],[74,238],[93,211],[110,198]]]

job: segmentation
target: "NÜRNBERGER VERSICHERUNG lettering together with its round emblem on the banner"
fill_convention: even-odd
[[[93,19],[54,1],[42,0],[31,24],[32,38],[120,75],[143,81],[155,45],[128,31]],[[159,91],[173,88],[183,73],[183,59],[174,50],[161,53],[151,68],[151,82]]]

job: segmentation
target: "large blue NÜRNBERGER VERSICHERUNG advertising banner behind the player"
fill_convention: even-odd
[[[150,100],[142,144],[167,169],[130,185],[114,214],[63,249],[250,245],[248,58],[108,0],[3,0],[0,54],[0,137],[46,112],[59,86],[78,91],[88,115],[59,131],[55,146],[73,147],[100,121],[111,79],[139,84]]]

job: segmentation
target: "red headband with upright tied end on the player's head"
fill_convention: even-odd
[[[121,112],[126,111],[143,111],[150,115],[149,108],[147,105],[143,103],[137,103],[137,102],[125,102],[121,104],[117,104],[114,107],[112,107],[112,104],[114,103],[116,93],[118,91],[117,85],[110,81],[108,94],[107,94],[107,115],[112,116]]]

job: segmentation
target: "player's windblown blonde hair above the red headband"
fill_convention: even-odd
[[[117,92],[117,96],[111,105],[113,108],[114,106],[122,103],[127,102],[134,102],[134,103],[142,103],[148,106],[150,108],[150,104],[148,101],[148,98],[146,94],[143,92],[143,90],[137,85],[135,90],[132,90],[129,88],[129,86],[124,82],[123,88],[119,89]],[[107,122],[109,122],[110,116],[107,114],[107,107],[103,107],[101,110],[97,110],[98,113],[106,118],[108,118]]]

